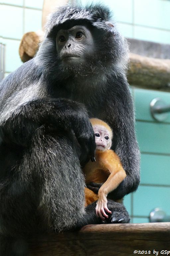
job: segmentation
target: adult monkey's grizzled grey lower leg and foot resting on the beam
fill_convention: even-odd
[[[48,143],[49,140],[50,143]],[[48,196],[52,204],[54,228],[60,231],[101,223],[101,219],[95,214],[96,202],[84,209],[84,175],[71,139],[67,134],[47,138],[44,150],[46,147],[48,152],[53,152],[53,155],[50,156],[51,180],[48,185]],[[33,153],[33,155],[35,154],[36,152]],[[51,165],[54,167],[51,168]],[[108,208],[112,211],[108,223],[129,222],[128,212],[122,204],[109,200]]]

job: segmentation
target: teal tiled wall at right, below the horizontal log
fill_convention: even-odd
[[[133,223],[148,222],[152,209],[170,213],[170,114],[159,123],[150,114],[150,102],[161,98],[170,104],[170,93],[131,88],[135,103],[136,135],[141,152],[141,182],[125,197]]]

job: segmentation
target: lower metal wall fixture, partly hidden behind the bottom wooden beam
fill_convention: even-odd
[[[166,213],[161,208],[155,208],[149,214],[149,221],[170,222],[170,216],[167,216]]]

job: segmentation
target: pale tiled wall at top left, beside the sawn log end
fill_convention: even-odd
[[[43,0],[1,0],[0,42],[5,48],[5,76],[22,65],[20,40],[24,33],[41,30]]]

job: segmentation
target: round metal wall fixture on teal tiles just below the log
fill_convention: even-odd
[[[168,117],[167,112],[170,112],[170,105],[167,105],[160,98],[155,98],[150,102],[150,112],[155,120],[164,121]]]

